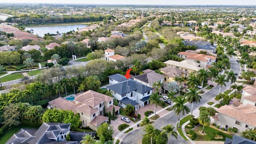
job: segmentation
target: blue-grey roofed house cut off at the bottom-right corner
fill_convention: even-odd
[[[234,134],[232,140],[226,137],[224,144],[256,144],[256,142]]]

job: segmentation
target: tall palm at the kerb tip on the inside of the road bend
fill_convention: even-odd
[[[174,109],[175,113],[179,116],[178,121],[178,128],[180,128],[180,114],[185,114],[185,112],[188,114],[190,112],[189,108],[184,105],[185,103],[185,98],[182,98],[181,96],[177,96],[176,99],[174,100],[175,104],[172,106]]]

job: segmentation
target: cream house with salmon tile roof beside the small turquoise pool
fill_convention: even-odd
[[[74,100],[60,97],[48,103],[50,108],[72,110],[74,113],[78,113],[83,125],[89,126],[92,130],[97,130],[100,124],[108,120],[107,117],[103,116],[104,107],[105,113],[112,112],[113,107],[115,107],[115,113],[119,113],[120,107],[114,106],[113,100],[114,98],[110,96],[88,90],[77,94]]]

